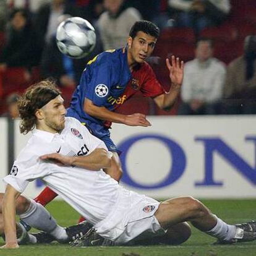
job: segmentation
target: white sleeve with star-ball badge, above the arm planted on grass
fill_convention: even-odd
[[[10,174],[4,177],[3,181],[22,193],[27,187],[28,182],[42,176],[43,173],[41,172],[40,165],[38,156],[24,151],[14,161]]]

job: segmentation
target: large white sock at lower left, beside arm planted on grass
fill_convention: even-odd
[[[51,234],[58,240],[67,239],[67,233],[64,228],[56,223],[56,220],[50,215],[40,203],[31,201],[30,207],[20,218],[33,228],[40,229]]]

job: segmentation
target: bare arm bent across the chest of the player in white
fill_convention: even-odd
[[[96,148],[86,156],[64,156],[59,153],[51,153],[40,156],[41,160],[54,161],[62,166],[75,165],[80,168],[98,171],[103,168],[111,167],[112,153],[104,148]]]

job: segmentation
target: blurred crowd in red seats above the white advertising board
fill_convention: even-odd
[[[93,24],[97,43],[86,58],[70,59],[55,35],[62,20],[77,16]],[[186,62],[180,100],[168,114],[256,113],[255,0],[0,0],[0,115],[16,118],[20,93],[48,77],[68,105],[86,63],[125,46],[142,19],[160,27],[148,62],[166,90],[164,59],[174,54]],[[165,114],[139,93],[118,111],[136,109]]]

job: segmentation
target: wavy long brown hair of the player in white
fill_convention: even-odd
[[[37,121],[36,111],[60,94],[61,92],[53,80],[43,80],[28,87],[18,101],[18,109],[22,119],[20,132],[27,134],[33,130]]]

